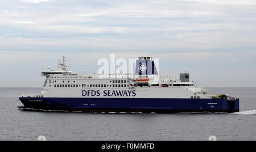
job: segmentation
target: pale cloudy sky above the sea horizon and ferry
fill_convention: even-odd
[[[205,87],[256,86],[256,0],[0,0],[0,87],[42,87],[67,56],[96,73],[100,58],[159,58],[159,73]]]

